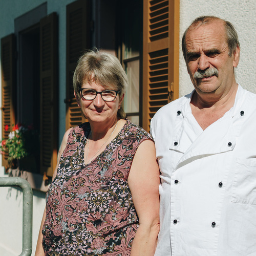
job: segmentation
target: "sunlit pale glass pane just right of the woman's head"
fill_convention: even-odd
[[[126,113],[139,112],[139,60],[127,62],[128,88],[124,99]]]

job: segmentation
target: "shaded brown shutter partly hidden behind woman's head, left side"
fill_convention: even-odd
[[[89,0],[79,0],[67,5],[66,130],[85,120],[74,96],[73,74],[78,58],[91,47],[90,15]]]

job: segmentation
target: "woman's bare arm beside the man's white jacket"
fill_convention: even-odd
[[[143,141],[134,156],[129,178],[134,206],[139,217],[131,256],[153,256],[159,232],[159,167],[155,144]]]

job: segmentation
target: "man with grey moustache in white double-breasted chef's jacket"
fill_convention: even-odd
[[[151,123],[161,170],[155,255],[256,255],[256,95],[234,76],[237,32],[199,17],[182,49],[195,90]]]

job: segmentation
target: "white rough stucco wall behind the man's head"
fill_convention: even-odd
[[[182,56],[181,39],[190,23],[202,15],[213,15],[228,20],[236,28],[241,52],[237,82],[243,88],[256,93],[256,1],[255,0],[180,0],[180,96],[193,90],[185,61]]]

